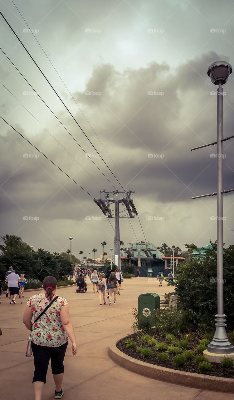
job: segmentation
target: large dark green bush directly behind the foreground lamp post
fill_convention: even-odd
[[[193,258],[190,263],[177,266],[175,293],[178,295],[177,308],[189,311],[188,322],[203,330],[213,329],[217,312],[217,245],[210,242],[202,259]],[[234,307],[230,293],[234,292],[234,246],[224,249],[224,309],[228,329],[234,330]],[[227,279],[228,277],[228,279]]]

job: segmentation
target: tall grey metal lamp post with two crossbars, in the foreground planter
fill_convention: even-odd
[[[222,160],[223,160],[223,88],[222,84],[228,81],[229,75],[232,73],[232,66],[226,61],[213,62],[208,68],[207,74],[210,76],[211,82],[218,86],[217,90],[217,142],[205,144],[192,148],[197,150],[203,147],[217,144],[217,192],[195,196],[201,198],[217,195],[217,306],[218,311],[215,315],[216,330],[213,340],[208,344],[208,353],[213,354],[230,354],[234,353],[234,346],[229,342],[226,333],[226,315],[224,315],[224,280],[223,280],[223,193],[233,192],[234,189],[222,189]],[[206,354],[206,353],[205,353]]]

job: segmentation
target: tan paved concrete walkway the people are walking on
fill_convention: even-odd
[[[91,282],[87,281],[88,292],[77,294],[75,287],[62,288],[57,294],[67,299],[75,334],[78,352],[71,356],[71,344],[65,356],[64,400],[231,400],[234,393],[211,392],[187,388],[146,378],[129,372],[115,364],[108,356],[109,342],[117,336],[132,332],[132,311],[137,307],[141,293],[163,295],[171,288],[163,287],[147,278],[125,279],[123,290],[117,297],[117,304],[99,306],[99,295],[93,294]],[[22,323],[26,300],[38,292],[26,292],[26,298],[16,305],[2,296],[0,304],[0,398],[2,400],[34,400],[32,392],[33,358],[26,358],[29,331]],[[54,381],[49,372],[44,389],[43,400],[53,399]]]

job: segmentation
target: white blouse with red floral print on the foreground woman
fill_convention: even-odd
[[[35,294],[27,301],[28,307],[31,308],[34,320],[41,312],[50,304],[44,293]],[[60,310],[67,304],[67,300],[58,297],[57,300],[48,308],[37,322],[32,325],[30,339],[39,346],[59,347],[68,340],[67,334],[60,318]]]

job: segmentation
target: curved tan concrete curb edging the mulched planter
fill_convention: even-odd
[[[125,336],[126,337],[126,336]],[[183,372],[172,370],[170,368],[160,367],[153,364],[148,364],[143,361],[136,360],[127,354],[117,349],[116,345],[123,337],[113,340],[109,344],[108,354],[110,358],[119,364],[121,367],[135,372],[136,374],[147,376],[182,386],[189,386],[192,388],[212,390],[217,392],[231,392],[234,393],[234,379],[220,378],[216,376],[207,376],[194,374],[192,372]]]

